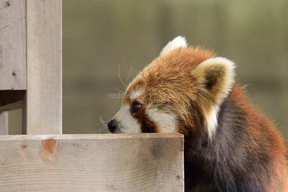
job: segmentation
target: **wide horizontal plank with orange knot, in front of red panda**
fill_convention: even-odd
[[[0,189],[181,191],[183,135],[0,136]]]

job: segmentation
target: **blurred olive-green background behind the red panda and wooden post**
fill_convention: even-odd
[[[255,105],[288,139],[288,1],[62,0],[63,134],[105,133],[122,90],[174,37],[237,64]],[[119,90],[117,90],[117,89]],[[106,119],[107,117],[107,119]],[[21,109],[9,112],[21,134]]]

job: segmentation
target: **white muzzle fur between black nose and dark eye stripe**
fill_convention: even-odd
[[[113,117],[119,123],[119,128],[123,133],[141,133],[141,125],[130,113],[129,105],[122,105],[118,113]]]

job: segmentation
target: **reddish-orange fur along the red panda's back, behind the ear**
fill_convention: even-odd
[[[267,117],[261,115],[253,107],[246,94],[245,86],[234,85],[229,97],[239,106],[240,110],[247,113],[247,116],[244,116],[244,124],[249,129],[249,135],[247,136],[251,138],[249,146],[246,146],[247,150],[260,149],[273,160],[270,172],[274,177],[271,178],[268,185],[269,191],[278,191],[281,184],[280,190],[288,191],[287,148],[280,133]],[[238,113],[242,112],[239,111]],[[261,159],[255,159],[255,161],[261,161]],[[257,175],[254,175],[254,177],[257,178]]]

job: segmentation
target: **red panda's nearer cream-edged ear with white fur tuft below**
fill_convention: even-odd
[[[202,102],[202,111],[205,118],[209,138],[217,130],[217,115],[220,105],[231,91],[234,84],[235,64],[222,57],[207,59],[191,71],[199,83],[204,85],[202,91],[208,93],[208,98]]]

